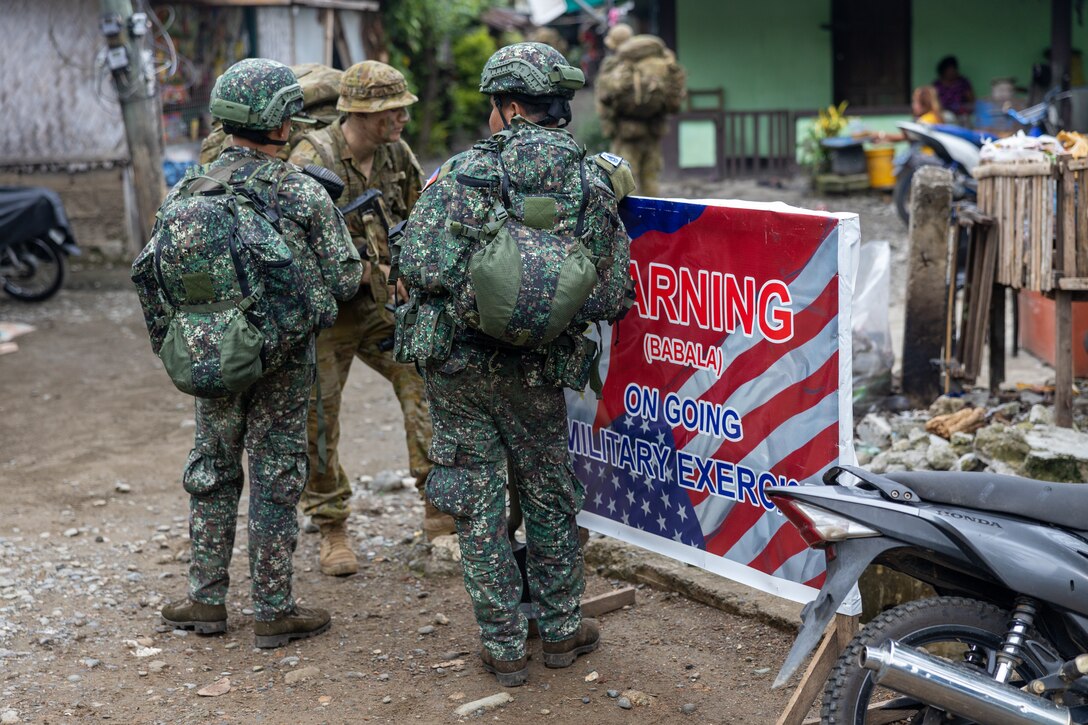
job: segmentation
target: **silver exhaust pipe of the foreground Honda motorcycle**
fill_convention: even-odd
[[[986,725],[1072,725],[1068,709],[947,660],[889,640],[866,647],[858,664],[873,679],[945,712]]]

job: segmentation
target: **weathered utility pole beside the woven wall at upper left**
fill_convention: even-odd
[[[136,241],[138,249],[151,235],[156,211],[166,191],[162,177],[162,134],[154,71],[144,49],[147,14],[134,13],[132,0],[99,1],[102,10],[100,28],[109,46],[107,65],[121,102],[128,156],[132,158],[136,229],[143,237]]]

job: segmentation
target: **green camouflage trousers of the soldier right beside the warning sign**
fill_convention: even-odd
[[[567,639],[581,624],[585,579],[574,516],[585,491],[567,455],[562,391],[527,384],[520,356],[477,348],[455,356],[467,359],[462,369],[426,370],[434,416],[426,496],[457,523],[465,588],[484,647],[499,660],[517,660],[528,623],[518,609],[521,574],[507,538],[507,457],[526,520],[529,589],[546,641]]]

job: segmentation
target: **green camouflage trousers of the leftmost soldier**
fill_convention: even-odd
[[[294,609],[295,507],[306,486],[306,407],[312,351],[304,348],[239,395],[197,398],[196,444],[182,476],[189,493],[189,597],[224,604],[231,578],[244,475],[249,456],[249,575],[260,622]]]

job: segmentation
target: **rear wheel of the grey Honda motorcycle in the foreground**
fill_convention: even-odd
[[[850,642],[839,658],[824,688],[824,705],[820,711],[823,725],[864,725],[887,713],[874,713],[867,721],[870,703],[880,702],[897,693],[873,681],[873,673],[862,667],[857,658],[863,647],[878,647],[889,639],[904,644],[923,648],[932,654],[963,662],[963,654],[974,649],[975,656],[985,655],[986,667],[992,673],[996,665],[994,653],[1004,642],[1009,625],[1007,611],[986,602],[962,597],[938,597],[917,602],[907,602],[888,610],[873,619]],[[1034,630],[1030,639],[1044,643]],[[1026,681],[1041,677],[1046,668],[1036,662],[1028,650],[1024,650],[1022,664],[1013,672],[1010,684],[1023,686]],[[928,709],[914,706],[904,709],[900,720],[879,720],[882,723],[920,723]],[[964,721],[956,720],[956,723]]]

